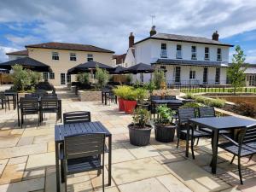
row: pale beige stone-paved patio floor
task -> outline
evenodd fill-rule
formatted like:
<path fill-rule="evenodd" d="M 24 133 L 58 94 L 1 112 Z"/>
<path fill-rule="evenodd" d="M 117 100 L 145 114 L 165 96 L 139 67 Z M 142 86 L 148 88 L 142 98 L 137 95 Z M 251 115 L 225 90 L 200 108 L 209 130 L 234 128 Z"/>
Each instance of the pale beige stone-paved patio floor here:
<path fill-rule="evenodd" d="M 195 147 L 195 160 L 191 155 L 187 159 L 184 143 L 176 148 L 176 141 L 156 142 L 154 131 L 148 146 L 132 146 L 127 129 L 131 115 L 119 113 L 114 104 L 63 97 L 62 112 L 75 110 L 90 111 L 92 120 L 100 120 L 113 134 L 113 182 L 106 186 L 107 192 L 256 191 L 256 158 L 242 159 L 244 185 L 240 185 L 237 161 L 230 165 L 232 155 L 220 149 L 218 173 L 212 175 L 208 139 L 201 139 Z M 0 117 L 0 191 L 55 192 L 55 114 L 47 114 L 39 127 L 36 116 L 27 116 L 23 129 L 17 126 L 16 111 L 1 109 Z M 96 172 L 68 177 L 68 191 L 102 191 L 102 177 L 96 177 Z"/>

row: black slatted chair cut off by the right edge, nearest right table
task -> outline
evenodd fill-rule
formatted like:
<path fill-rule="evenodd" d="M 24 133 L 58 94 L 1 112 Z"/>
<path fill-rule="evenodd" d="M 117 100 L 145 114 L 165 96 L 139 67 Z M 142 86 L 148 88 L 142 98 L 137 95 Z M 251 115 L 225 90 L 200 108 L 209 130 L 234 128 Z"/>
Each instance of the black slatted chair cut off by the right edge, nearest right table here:
<path fill-rule="evenodd" d="M 253 154 L 256 154 L 256 125 L 238 131 L 237 142 L 224 134 L 222 136 L 226 138 L 228 142 L 220 143 L 218 147 L 234 154 L 234 157 L 238 157 L 240 183 L 243 184 L 241 177 L 241 157 L 251 156 L 250 158 L 252 158 Z M 231 160 L 231 163 L 234 159 L 235 158 Z"/>

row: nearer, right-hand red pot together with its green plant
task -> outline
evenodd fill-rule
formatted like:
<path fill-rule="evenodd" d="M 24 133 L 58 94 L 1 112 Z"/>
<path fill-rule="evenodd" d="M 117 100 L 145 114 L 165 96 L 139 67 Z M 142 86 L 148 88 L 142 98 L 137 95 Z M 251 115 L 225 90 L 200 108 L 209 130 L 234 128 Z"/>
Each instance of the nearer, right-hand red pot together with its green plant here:
<path fill-rule="evenodd" d="M 129 90 L 124 96 L 125 113 L 131 114 L 137 105 L 137 91 L 134 89 Z"/>

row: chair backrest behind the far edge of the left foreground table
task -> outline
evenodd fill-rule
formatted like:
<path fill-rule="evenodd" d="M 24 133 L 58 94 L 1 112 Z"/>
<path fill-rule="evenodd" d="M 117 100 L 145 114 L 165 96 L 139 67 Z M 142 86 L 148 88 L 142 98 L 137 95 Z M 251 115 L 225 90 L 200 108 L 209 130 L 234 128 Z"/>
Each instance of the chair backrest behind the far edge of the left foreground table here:
<path fill-rule="evenodd" d="M 63 113 L 64 124 L 90 122 L 90 112 L 74 111 Z"/>

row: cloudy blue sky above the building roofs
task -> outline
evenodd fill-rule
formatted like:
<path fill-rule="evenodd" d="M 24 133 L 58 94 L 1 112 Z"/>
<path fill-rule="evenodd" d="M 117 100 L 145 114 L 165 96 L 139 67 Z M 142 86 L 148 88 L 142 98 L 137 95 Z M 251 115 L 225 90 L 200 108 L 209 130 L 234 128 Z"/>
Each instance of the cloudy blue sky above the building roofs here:
<path fill-rule="evenodd" d="M 157 32 L 212 38 L 241 46 L 256 63 L 256 0 L 0 0 L 0 61 L 26 44 L 92 44 L 125 53 Z M 230 49 L 230 58 L 234 49 Z"/>

